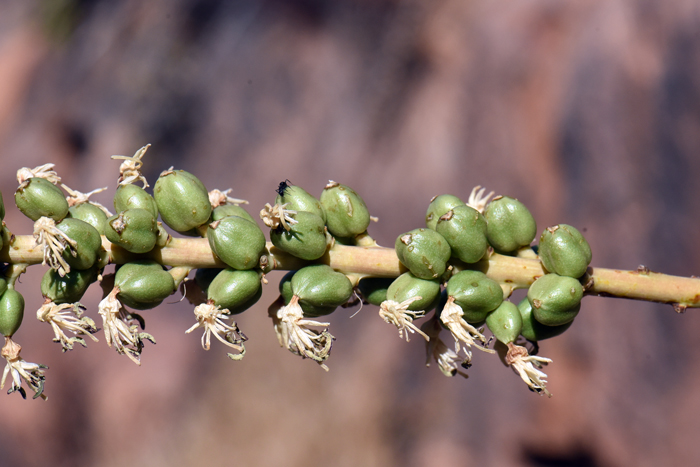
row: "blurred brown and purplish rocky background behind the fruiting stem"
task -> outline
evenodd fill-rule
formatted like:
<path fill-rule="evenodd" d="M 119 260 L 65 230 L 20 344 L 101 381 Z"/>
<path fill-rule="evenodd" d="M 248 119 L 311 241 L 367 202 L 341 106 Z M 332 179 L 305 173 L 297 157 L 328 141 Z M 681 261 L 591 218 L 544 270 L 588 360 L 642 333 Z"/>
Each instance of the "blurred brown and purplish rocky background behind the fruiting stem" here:
<path fill-rule="evenodd" d="M 593 265 L 700 274 L 700 5 L 694 0 L 0 0 L 0 187 L 57 164 L 116 185 L 145 143 L 256 213 L 290 179 L 334 179 L 391 245 L 430 198 L 518 197 L 585 230 Z M 110 204 L 110 195 L 98 201 Z M 541 354 L 552 399 L 492 356 L 425 368 L 376 307 L 331 318 L 325 374 L 277 345 L 273 277 L 237 321 L 241 362 L 204 352 L 186 303 L 145 313 L 142 366 L 61 354 L 22 279 L 23 357 L 48 402 L 0 397 L 0 465 L 656 466 L 700 463 L 700 313 L 587 298 Z M 98 289 L 84 303 L 97 316 Z M 172 301 L 177 298 L 173 297 Z M 218 343 L 217 343 L 218 344 Z"/>

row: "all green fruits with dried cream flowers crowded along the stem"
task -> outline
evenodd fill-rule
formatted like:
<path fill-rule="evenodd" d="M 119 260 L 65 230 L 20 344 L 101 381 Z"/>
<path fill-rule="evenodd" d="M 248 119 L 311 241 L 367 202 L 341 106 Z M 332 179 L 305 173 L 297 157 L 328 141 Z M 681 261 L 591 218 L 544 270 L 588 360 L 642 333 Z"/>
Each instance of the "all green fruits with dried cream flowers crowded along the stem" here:
<path fill-rule="evenodd" d="M 241 206 L 247 201 L 230 197 L 230 190 L 208 192 L 196 176 L 170 168 L 160 174 L 152 194 L 147 192 L 149 185 L 140 171 L 147 149 L 132 157 L 113 156 L 123 160 L 113 199 L 116 214 L 89 199 L 104 188 L 86 194 L 72 190 L 61 183 L 53 164 L 18 171 L 15 203 L 34 221 L 35 248 L 49 266 L 41 282 L 44 303 L 37 318 L 51 326 L 63 351 L 76 343 L 86 346 L 85 337 L 98 340 L 98 326 L 84 315 L 80 300 L 92 283 L 100 282 L 104 298 L 98 313 L 105 341 L 140 364 L 145 341 L 155 339 L 144 332 L 144 319 L 137 311 L 162 303 L 194 268 L 166 267 L 158 261 L 154 252 L 172 242 L 165 224 L 184 236 L 206 238 L 219 265 L 197 269 L 197 287 L 187 290 L 196 322 L 186 333 L 201 329 L 205 350 L 213 335 L 232 349 L 231 359 L 242 358 L 247 337 L 233 316 L 260 299 L 266 273 L 293 269 L 282 278 L 280 296 L 268 312 L 280 345 L 295 355 L 327 370 L 334 337 L 329 323 L 316 318 L 355 304 L 357 297 L 379 305 L 379 315 L 406 340 L 409 333 L 423 336 L 429 361 L 434 358 L 448 376 L 465 375 L 462 370 L 471 365 L 473 346 L 494 353 L 483 334 L 485 323 L 500 343 L 496 349 L 501 344 L 505 349 L 505 363 L 532 390 L 549 394 L 541 366 L 550 360 L 530 355 L 516 341 L 558 335 L 578 313 L 591 252 L 575 228 L 562 224 L 546 229 L 535 251 L 530 247 L 535 221 L 519 201 L 498 196 L 489 202 L 492 194 L 484 196 L 483 189 L 475 189 L 467 203 L 441 195 L 430 203 L 426 228 L 396 240 L 395 253 L 405 273 L 381 278 L 339 272 L 329 266 L 328 254 L 336 244 L 381 248 L 367 234 L 370 221 L 376 219 L 350 187 L 329 181 L 315 198 L 288 180 L 280 183 L 274 205 L 260 212 L 270 228 L 268 247 L 265 234 Z M 4 222 L 0 241 L 14 241 Z M 483 272 L 494 252 L 539 258 L 547 272 L 518 305 L 508 301 L 512 287 Z M 115 255 L 121 260 L 115 261 Z M 296 262 L 281 266 L 277 259 L 285 255 Z M 122 264 L 114 274 L 104 274 L 110 261 Z M 24 381 L 34 397 L 45 398 L 46 367 L 24 361 L 21 347 L 12 340 L 24 314 L 24 300 L 14 285 L 27 265 L 8 264 L 0 277 L 0 332 L 6 338 L 2 356 L 7 361 L 1 386 L 11 375 L 10 392 L 24 397 Z M 420 328 L 413 323 L 433 309 L 434 315 Z M 452 334 L 454 346 L 441 340 L 443 330 Z"/>

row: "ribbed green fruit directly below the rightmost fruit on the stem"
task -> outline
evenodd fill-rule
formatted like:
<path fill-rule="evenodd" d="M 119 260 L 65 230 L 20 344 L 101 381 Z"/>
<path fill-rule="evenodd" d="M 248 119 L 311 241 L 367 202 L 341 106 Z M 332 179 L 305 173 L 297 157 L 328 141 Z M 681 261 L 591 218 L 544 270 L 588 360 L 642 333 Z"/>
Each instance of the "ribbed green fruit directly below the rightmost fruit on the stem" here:
<path fill-rule="evenodd" d="M 583 287 L 573 277 L 546 274 L 527 291 L 535 319 L 546 326 L 572 321 L 581 308 Z"/>

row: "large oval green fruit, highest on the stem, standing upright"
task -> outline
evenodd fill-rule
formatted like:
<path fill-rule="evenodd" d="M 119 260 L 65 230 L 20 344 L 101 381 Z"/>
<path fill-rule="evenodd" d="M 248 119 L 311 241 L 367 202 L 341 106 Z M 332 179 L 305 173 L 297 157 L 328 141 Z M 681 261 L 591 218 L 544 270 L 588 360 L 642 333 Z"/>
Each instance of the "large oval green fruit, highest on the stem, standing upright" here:
<path fill-rule="evenodd" d="M 206 223 L 211 216 L 209 193 L 204 184 L 184 170 L 160 174 L 153 197 L 160 216 L 176 232 L 187 232 Z"/>

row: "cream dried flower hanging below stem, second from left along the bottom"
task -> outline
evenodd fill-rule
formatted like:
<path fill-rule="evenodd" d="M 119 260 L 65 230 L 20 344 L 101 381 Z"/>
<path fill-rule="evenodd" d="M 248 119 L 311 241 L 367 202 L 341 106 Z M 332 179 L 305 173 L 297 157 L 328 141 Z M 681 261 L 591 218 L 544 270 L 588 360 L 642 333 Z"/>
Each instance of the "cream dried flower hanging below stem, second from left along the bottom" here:
<path fill-rule="evenodd" d="M 87 347 L 85 340 L 81 335 L 89 336 L 93 341 L 98 342 L 97 337 L 93 336 L 97 332 L 95 322 L 88 316 L 82 316 L 85 307 L 80 303 L 62 303 L 55 304 L 47 299 L 44 304 L 36 312 L 36 317 L 39 321 L 49 323 L 53 328 L 54 342 L 60 342 L 63 351 L 73 350 L 73 344 L 78 343 L 83 347 Z M 68 337 L 66 332 L 75 334 L 73 337 Z"/>

